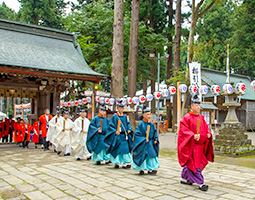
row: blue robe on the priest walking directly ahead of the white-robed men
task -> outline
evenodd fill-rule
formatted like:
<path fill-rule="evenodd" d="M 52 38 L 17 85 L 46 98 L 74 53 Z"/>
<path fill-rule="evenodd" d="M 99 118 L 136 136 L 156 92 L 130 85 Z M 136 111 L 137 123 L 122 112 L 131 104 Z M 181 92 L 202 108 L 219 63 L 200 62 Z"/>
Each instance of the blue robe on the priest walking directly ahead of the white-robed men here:
<path fill-rule="evenodd" d="M 98 128 L 100 127 L 101 119 L 102 123 L 102 133 L 98 133 Z M 109 159 L 109 155 L 106 155 L 106 144 L 104 143 L 106 131 L 109 125 L 109 120 L 106 117 L 96 116 L 89 125 L 88 135 L 87 135 L 87 148 L 92 154 L 93 161 L 103 161 Z M 95 155 L 96 154 L 96 155 Z M 95 158 L 97 155 L 101 158 Z"/>

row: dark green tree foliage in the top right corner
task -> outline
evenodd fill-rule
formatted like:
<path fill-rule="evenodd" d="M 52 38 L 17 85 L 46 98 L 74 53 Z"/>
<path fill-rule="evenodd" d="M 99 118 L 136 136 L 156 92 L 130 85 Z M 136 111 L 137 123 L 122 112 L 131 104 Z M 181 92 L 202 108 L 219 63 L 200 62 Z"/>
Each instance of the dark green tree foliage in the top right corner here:
<path fill-rule="evenodd" d="M 237 73 L 255 76 L 255 1 L 244 0 L 236 9 L 230 43 L 230 66 Z"/>

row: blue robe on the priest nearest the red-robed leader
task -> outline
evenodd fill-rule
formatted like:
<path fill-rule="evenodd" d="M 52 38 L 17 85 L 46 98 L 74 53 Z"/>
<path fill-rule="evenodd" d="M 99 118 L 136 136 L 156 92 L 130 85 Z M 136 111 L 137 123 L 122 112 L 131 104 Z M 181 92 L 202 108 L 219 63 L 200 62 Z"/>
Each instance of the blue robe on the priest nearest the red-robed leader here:
<path fill-rule="evenodd" d="M 149 142 L 146 142 L 147 126 L 150 126 Z M 157 144 L 154 144 L 157 141 Z M 140 121 L 135 129 L 133 141 L 133 165 L 136 170 L 150 170 L 159 167 L 159 141 L 153 123 Z"/>

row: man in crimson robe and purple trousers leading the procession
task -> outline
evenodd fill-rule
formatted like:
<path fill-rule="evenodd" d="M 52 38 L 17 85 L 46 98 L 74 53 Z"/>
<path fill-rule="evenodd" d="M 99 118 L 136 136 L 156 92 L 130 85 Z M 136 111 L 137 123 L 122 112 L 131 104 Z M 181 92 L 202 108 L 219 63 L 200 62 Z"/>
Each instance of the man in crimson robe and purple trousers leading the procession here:
<path fill-rule="evenodd" d="M 212 133 L 200 112 L 200 101 L 195 95 L 191 102 L 191 111 L 181 122 L 178 133 L 178 159 L 181 167 L 181 183 L 199 184 L 199 189 L 207 191 L 202 171 L 208 161 L 214 161 Z M 197 130 L 198 129 L 198 130 Z"/>

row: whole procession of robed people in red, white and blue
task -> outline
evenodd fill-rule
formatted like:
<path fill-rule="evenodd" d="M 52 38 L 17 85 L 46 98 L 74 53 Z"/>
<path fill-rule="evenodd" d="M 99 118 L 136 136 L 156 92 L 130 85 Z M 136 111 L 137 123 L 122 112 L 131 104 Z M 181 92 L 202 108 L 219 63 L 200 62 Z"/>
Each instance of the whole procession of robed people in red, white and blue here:
<path fill-rule="evenodd" d="M 110 120 L 104 105 L 100 105 L 92 121 L 83 107 L 79 108 L 80 116 L 75 121 L 69 118 L 68 109 L 56 110 L 53 117 L 46 108 L 33 125 L 27 119 L 14 121 L 12 116 L 1 121 L 2 142 L 11 135 L 9 141 L 21 148 L 29 148 L 33 142 L 35 148 L 40 145 L 43 151 L 52 149 L 56 156 L 74 156 L 77 161 L 91 159 L 96 165 L 112 163 L 114 168 L 137 170 L 139 175 L 146 171 L 149 175 L 157 174 L 159 136 L 151 122 L 150 109 L 143 108 L 142 120 L 134 131 L 121 101 Z M 190 112 L 180 121 L 177 142 L 178 159 L 183 167 L 180 183 L 196 183 L 200 190 L 207 191 L 209 186 L 204 184 L 202 171 L 208 161 L 214 161 L 214 153 L 212 134 L 199 112 L 200 102 L 194 97 Z"/>

